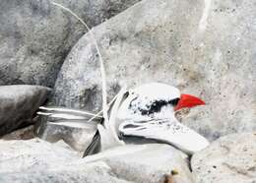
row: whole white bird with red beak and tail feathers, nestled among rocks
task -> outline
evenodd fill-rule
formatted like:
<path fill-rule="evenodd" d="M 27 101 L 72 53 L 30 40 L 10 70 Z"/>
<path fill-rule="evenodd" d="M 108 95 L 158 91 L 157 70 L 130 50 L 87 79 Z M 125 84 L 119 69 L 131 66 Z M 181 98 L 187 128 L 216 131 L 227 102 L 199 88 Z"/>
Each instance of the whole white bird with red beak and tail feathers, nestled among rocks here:
<path fill-rule="evenodd" d="M 163 83 L 148 83 L 135 89 L 122 89 L 109 107 L 109 124 L 100 119 L 97 131 L 91 145 L 83 156 L 96 153 L 98 146 L 101 151 L 114 146 L 123 146 L 125 138 L 137 137 L 145 140 L 155 140 L 173 146 L 187 154 L 199 152 L 209 146 L 202 135 L 181 124 L 175 117 L 175 112 L 182 108 L 192 108 L 206 103 L 197 96 L 181 93 L 177 88 Z M 54 117 L 51 123 L 74 126 L 81 123 L 87 126 L 88 117 L 94 114 L 75 109 L 58 107 L 40 107 L 37 114 Z M 67 123 L 65 123 L 65 120 Z M 72 124 L 74 122 L 74 124 Z M 133 143 L 133 142 L 129 142 Z M 100 150 L 100 148 L 99 148 Z"/>

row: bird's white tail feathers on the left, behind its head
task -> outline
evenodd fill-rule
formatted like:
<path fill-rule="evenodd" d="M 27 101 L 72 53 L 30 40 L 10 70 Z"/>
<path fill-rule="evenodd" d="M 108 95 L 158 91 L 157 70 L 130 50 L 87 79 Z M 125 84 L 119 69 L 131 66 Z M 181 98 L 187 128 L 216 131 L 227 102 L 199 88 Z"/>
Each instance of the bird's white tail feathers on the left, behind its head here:
<path fill-rule="evenodd" d="M 121 102 L 126 97 L 126 89 L 121 89 L 116 95 L 113 104 L 109 105 L 108 112 L 109 124 L 104 123 L 104 119 L 99 114 L 92 112 L 69 109 L 64 107 L 39 107 L 38 115 L 46 117 L 46 123 L 53 123 L 60 126 L 68 126 L 73 128 L 91 128 L 97 124 L 97 130 L 92 143 L 88 146 L 84 156 L 96 152 L 96 150 L 106 150 L 114 146 L 123 145 L 123 141 L 118 138 L 118 127 L 116 126 L 116 115 Z M 94 123 L 94 124 L 93 124 Z"/>

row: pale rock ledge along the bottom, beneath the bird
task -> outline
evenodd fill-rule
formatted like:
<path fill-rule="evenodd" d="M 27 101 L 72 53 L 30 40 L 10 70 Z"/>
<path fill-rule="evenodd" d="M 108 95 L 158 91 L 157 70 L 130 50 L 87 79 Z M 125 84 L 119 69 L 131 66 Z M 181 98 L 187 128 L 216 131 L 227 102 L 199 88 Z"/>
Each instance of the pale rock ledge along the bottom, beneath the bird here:
<path fill-rule="evenodd" d="M 103 152 L 104 158 L 99 153 L 84 159 L 61 142 L 0 141 L 0 147 L 1 183 L 162 183 L 171 170 L 178 173 L 172 177 L 176 183 L 192 182 L 182 152 L 166 145 L 119 147 Z"/>

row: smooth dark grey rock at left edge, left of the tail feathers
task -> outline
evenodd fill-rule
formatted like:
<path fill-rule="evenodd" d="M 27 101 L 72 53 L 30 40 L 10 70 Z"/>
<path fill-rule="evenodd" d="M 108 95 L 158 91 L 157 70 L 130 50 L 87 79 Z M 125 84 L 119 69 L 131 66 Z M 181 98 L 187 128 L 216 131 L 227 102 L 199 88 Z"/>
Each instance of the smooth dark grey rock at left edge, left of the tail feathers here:
<path fill-rule="evenodd" d="M 0 136 L 32 123 L 35 111 L 50 91 L 39 86 L 1 86 Z"/>

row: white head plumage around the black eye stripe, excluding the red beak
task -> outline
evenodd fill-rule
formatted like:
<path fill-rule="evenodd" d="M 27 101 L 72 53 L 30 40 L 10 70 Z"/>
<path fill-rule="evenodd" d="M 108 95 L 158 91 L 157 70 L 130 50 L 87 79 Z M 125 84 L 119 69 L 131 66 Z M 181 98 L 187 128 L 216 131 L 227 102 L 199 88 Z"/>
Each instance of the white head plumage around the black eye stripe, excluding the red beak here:
<path fill-rule="evenodd" d="M 174 87 L 160 83 L 146 84 L 129 91 L 128 97 L 120 106 L 117 117 L 120 120 L 132 119 L 133 121 L 170 118 L 173 114 L 173 107 L 168 107 L 168 105 L 163 106 L 159 112 L 148 115 L 142 115 L 142 113 L 147 112 L 154 104 L 158 104 L 158 101 L 165 101 L 168 104 L 168 101 L 179 97 L 180 91 Z"/>

